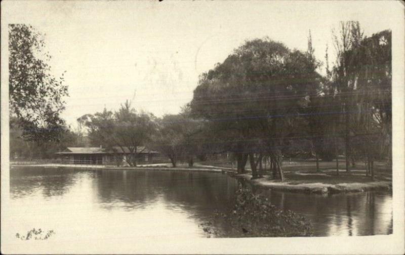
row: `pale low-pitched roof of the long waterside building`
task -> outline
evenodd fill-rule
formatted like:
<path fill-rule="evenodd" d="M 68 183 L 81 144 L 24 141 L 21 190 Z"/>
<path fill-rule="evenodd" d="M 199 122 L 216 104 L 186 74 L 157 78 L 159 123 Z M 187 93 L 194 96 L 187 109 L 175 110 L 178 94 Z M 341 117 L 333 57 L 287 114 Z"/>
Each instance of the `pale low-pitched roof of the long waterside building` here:
<path fill-rule="evenodd" d="M 68 147 L 66 150 L 63 152 L 57 152 L 56 154 L 109 154 L 112 152 L 115 153 L 122 153 L 122 154 L 129 154 L 131 153 L 131 150 L 128 147 L 119 147 L 119 146 L 114 146 L 112 148 L 113 151 L 109 150 L 107 151 L 105 148 L 100 148 L 100 147 Z M 146 149 L 144 146 L 138 146 L 136 149 L 137 153 L 157 153 L 155 151 L 151 151 L 149 149 Z"/>

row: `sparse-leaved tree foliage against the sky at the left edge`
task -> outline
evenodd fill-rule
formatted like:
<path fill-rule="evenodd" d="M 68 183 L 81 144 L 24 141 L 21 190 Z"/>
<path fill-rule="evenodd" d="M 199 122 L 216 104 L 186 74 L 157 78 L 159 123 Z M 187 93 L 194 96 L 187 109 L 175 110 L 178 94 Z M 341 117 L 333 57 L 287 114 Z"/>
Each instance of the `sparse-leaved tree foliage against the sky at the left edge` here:
<path fill-rule="evenodd" d="M 9 25 L 9 104 L 22 137 L 35 142 L 57 141 L 64 132 L 60 113 L 68 95 L 59 79 L 50 74 L 44 38 L 32 26 Z"/>

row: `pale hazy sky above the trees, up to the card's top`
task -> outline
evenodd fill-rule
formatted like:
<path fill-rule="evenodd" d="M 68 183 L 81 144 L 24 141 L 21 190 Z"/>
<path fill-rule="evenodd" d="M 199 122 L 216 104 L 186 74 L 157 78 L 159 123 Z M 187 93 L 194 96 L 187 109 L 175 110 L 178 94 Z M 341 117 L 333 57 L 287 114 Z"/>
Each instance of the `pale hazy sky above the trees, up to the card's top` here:
<path fill-rule="evenodd" d="M 3 3 L 4 4 L 4 3 Z M 66 70 L 63 117 L 116 110 L 130 99 L 157 116 L 178 113 L 198 76 L 245 40 L 269 37 L 315 55 L 333 56 L 331 29 L 358 20 L 366 35 L 389 29 L 398 2 L 14 2 L 8 23 L 46 33 L 55 76 Z M 390 8 L 388 8 L 390 7 Z M 12 14 L 12 15 L 11 15 Z M 394 35 L 395 36 L 395 35 Z"/>

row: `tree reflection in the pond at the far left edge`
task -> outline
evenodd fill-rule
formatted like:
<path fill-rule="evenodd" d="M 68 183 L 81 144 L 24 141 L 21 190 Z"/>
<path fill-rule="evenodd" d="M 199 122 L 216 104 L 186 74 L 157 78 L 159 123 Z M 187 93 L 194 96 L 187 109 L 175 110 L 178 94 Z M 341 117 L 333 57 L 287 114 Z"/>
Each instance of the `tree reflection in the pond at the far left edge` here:
<path fill-rule="evenodd" d="M 13 198 L 29 196 L 41 190 L 44 197 L 62 196 L 76 182 L 73 170 L 57 168 L 19 168 L 10 171 L 10 194 Z"/>

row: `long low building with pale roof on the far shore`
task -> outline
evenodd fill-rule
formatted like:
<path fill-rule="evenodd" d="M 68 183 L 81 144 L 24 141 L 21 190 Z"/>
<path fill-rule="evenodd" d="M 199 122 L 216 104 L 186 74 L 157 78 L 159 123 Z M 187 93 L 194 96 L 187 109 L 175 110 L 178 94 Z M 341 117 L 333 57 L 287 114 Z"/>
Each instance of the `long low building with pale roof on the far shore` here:
<path fill-rule="evenodd" d="M 126 165 L 126 159 L 133 153 L 128 147 L 113 147 L 109 150 L 101 147 L 68 147 L 56 155 L 64 163 L 93 164 L 93 165 Z M 136 148 L 137 163 L 153 163 L 158 152 L 151 151 L 143 146 Z M 117 162 L 118 161 L 118 162 Z"/>

